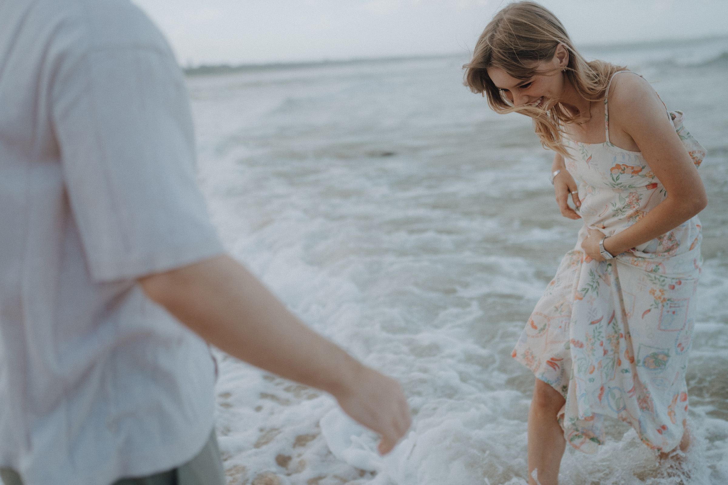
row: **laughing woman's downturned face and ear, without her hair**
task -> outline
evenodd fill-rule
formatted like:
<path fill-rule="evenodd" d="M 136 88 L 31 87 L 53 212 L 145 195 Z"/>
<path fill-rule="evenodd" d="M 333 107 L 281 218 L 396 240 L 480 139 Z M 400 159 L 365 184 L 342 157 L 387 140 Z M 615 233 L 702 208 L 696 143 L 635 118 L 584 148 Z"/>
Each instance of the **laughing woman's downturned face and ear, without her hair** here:
<path fill-rule="evenodd" d="M 552 60 L 541 61 L 536 65 L 537 71 L 553 69 L 548 74 L 516 79 L 502 68 L 488 68 L 488 76 L 513 105 L 550 109 L 563 97 L 566 81 L 561 70 L 568 63 L 569 55 L 563 44 L 559 44 Z"/>

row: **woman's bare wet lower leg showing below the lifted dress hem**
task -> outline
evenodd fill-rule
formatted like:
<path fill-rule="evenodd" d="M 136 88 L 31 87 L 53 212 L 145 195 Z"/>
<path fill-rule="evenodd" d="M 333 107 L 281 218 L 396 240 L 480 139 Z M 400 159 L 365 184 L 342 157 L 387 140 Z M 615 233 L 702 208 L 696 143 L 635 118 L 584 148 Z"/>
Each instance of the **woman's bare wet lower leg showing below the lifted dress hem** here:
<path fill-rule="evenodd" d="M 537 470 L 540 485 L 557 485 L 566 440 L 556 414 L 566 401 L 546 382 L 536 380 L 529 409 L 529 485 L 538 485 L 532 473 Z"/>

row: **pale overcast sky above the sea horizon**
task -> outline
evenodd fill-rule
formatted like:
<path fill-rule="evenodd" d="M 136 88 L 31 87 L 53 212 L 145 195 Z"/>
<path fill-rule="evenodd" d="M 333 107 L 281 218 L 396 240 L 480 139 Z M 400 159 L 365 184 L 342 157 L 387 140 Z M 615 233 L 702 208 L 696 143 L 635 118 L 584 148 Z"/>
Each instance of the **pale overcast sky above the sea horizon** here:
<path fill-rule="evenodd" d="M 467 52 L 507 0 L 132 0 L 183 65 Z M 727 0 L 543 0 L 577 44 L 728 35 Z"/>

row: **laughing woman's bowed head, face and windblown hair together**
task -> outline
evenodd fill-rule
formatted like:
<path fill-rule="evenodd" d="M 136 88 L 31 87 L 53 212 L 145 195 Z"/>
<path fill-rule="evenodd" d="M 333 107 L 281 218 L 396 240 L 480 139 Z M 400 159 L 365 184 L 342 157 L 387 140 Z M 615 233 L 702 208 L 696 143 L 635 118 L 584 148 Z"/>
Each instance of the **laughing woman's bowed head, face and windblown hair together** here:
<path fill-rule="evenodd" d="M 491 36 L 486 42 L 481 36 L 472 61 L 465 65 L 465 84 L 485 95 L 498 113 L 531 116 L 544 147 L 568 157 L 560 125 L 583 124 L 590 118 L 591 103 L 604 99 L 609 79 L 624 68 L 601 60 L 587 62 L 561 22 L 541 9 L 510 9 L 519 14 L 511 20 L 518 24 L 514 28 L 527 32 L 518 49 L 508 36 Z M 564 96 L 571 103 L 559 100 Z"/>

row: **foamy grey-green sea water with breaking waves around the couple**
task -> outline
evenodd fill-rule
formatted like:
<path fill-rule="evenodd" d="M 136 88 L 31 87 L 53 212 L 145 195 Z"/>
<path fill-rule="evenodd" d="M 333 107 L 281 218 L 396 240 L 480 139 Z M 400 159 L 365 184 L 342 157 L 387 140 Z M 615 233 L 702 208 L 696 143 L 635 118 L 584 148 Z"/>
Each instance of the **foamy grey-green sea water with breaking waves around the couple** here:
<path fill-rule="evenodd" d="M 644 74 L 707 148 L 689 364 L 693 445 L 660 465 L 621 422 L 561 483 L 728 483 L 728 39 L 590 46 Z M 579 221 L 524 116 L 462 86 L 467 55 L 188 76 L 202 187 L 230 252 L 306 324 L 399 380 L 413 412 L 381 459 L 331 396 L 218 353 L 229 485 L 526 483 L 534 377 L 510 357 Z M 324 418 L 322 420 L 322 418 Z M 354 437 L 352 438 L 352 435 Z"/>

